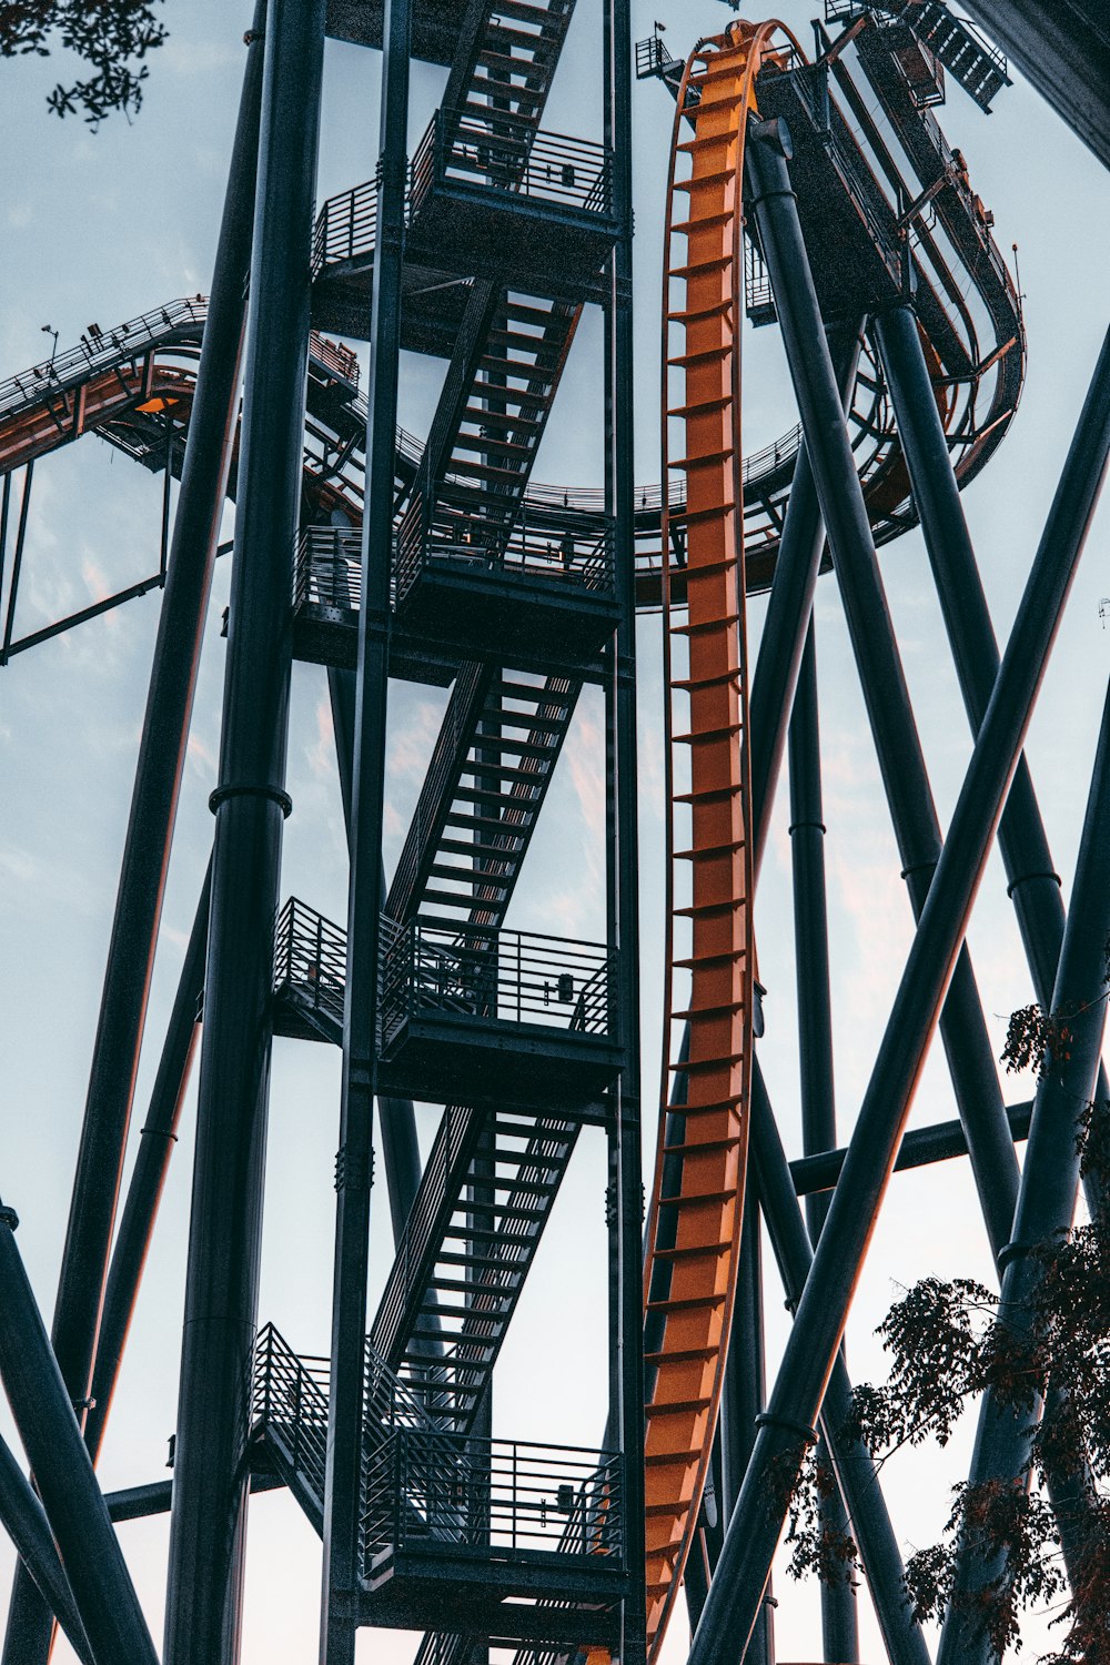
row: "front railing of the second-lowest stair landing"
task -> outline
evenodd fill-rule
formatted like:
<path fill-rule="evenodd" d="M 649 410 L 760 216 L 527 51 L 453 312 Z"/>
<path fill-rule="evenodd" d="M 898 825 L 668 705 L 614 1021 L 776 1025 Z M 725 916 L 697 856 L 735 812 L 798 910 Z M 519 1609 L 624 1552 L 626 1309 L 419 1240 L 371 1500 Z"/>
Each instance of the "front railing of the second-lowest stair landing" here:
<path fill-rule="evenodd" d="M 394 926 L 388 946 L 383 939 L 381 1046 L 409 1017 L 434 1012 L 604 1036 L 612 1026 L 611 969 L 612 957 L 596 942 L 416 917 Z"/>

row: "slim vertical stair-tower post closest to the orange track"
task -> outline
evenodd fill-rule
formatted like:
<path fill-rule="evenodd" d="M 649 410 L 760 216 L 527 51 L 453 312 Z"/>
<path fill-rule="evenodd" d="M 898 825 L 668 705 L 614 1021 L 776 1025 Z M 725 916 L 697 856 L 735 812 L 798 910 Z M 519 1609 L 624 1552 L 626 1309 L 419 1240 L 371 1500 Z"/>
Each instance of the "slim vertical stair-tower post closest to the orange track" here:
<path fill-rule="evenodd" d="M 617 240 L 609 260 L 604 305 L 606 506 L 614 518 L 614 561 L 621 616 L 606 689 L 609 711 L 611 922 L 616 947 L 616 1017 L 622 1071 L 614 1092 L 616 1127 L 616 1387 L 622 1457 L 624 1562 L 629 1592 L 621 1603 L 621 1665 L 646 1657 L 644 1592 L 644 1312 L 642 1312 L 642 1166 L 639 1081 L 639 891 L 636 801 L 636 478 L 632 451 L 632 30 L 629 0 L 606 0 L 604 138 L 612 168 Z M 616 939 L 612 932 L 616 931 Z"/>

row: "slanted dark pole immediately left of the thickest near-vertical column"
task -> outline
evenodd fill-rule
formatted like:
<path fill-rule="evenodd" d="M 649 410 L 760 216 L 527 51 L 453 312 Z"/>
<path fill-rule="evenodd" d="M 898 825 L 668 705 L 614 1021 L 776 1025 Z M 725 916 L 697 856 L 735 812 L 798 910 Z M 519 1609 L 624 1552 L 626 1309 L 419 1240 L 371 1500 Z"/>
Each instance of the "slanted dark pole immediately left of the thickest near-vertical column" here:
<path fill-rule="evenodd" d="M 265 0 L 258 0 L 256 42 L 248 47 L 228 170 L 53 1310 L 53 1347 L 77 1402 L 93 1397 L 90 1379 L 111 1229 L 235 440 L 258 165 L 263 22 Z M 18 1665 L 45 1660 L 50 1630 L 50 1615 L 27 1577 L 17 1572 L 3 1665 L 17 1665 L 17 1658 Z"/>

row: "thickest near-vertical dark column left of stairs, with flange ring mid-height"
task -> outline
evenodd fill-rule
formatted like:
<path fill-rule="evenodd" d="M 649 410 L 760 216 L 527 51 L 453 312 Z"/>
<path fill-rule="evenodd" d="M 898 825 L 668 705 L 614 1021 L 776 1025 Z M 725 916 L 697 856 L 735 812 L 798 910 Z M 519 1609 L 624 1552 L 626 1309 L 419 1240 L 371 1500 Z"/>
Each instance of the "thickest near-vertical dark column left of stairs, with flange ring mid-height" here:
<path fill-rule="evenodd" d="M 233 1665 L 258 1307 L 273 917 L 325 0 L 271 0 L 185 1285 L 166 1665 Z"/>

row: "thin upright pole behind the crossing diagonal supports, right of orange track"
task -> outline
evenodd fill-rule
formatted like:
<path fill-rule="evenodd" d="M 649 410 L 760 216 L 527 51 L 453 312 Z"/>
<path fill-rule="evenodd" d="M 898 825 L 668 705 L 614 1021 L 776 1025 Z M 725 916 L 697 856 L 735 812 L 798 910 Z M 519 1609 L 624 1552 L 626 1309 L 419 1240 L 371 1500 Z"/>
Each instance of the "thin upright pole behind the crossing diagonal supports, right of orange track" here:
<path fill-rule="evenodd" d="M 820 729 L 817 718 L 817 648 L 810 616 L 802 669 L 790 718 L 790 861 L 794 866 L 794 944 L 797 966 L 799 1057 L 802 1074 L 802 1149 L 832 1151 L 837 1117 L 832 1076 L 832 1001 L 829 991 L 829 914 L 825 907 L 825 823 L 820 793 Z M 820 1237 L 829 1195 L 805 1199 L 810 1240 Z M 817 1457 L 829 1460 L 824 1440 Z M 822 1503 L 832 1532 L 849 1528 L 839 1492 Z M 820 1587 L 820 1625 L 827 1660 L 859 1660 L 855 1590 L 845 1577 Z"/>

